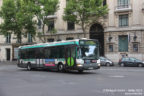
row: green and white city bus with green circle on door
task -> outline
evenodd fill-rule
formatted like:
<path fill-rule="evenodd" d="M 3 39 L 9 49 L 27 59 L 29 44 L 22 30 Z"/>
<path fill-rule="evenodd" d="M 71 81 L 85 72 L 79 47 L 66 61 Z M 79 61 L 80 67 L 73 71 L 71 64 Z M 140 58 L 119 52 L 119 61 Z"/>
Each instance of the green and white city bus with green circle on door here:
<path fill-rule="evenodd" d="M 99 69 L 99 43 L 93 39 L 76 39 L 20 46 L 18 67 L 79 72 Z"/>

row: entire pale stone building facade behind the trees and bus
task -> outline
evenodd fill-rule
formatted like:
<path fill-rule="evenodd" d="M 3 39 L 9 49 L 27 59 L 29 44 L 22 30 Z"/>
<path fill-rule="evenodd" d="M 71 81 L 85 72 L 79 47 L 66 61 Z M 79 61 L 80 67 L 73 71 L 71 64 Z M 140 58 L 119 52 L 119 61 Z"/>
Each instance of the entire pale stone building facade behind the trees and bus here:
<path fill-rule="evenodd" d="M 1 2 L 2 0 L 0 5 Z M 98 39 L 100 54 L 114 62 L 118 62 L 123 56 L 144 60 L 144 0 L 104 0 L 104 4 L 108 5 L 108 15 L 100 23 L 90 25 L 86 37 Z M 47 42 L 83 38 L 80 26 L 63 20 L 65 7 L 66 0 L 59 0 L 59 10 L 49 16 L 52 23 L 45 29 Z M 50 34 L 51 28 L 55 28 L 57 32 Z M 37 31 L 41 31 L 40 25 Z M 8 53 L 10 53 L 10 60 L 16 57 L 15 52 L 19 44 L 12 36 L 11 42 L 6 43 L 8 38 L 0 35 L 0 60 L 8 60 Z M 28 42 L 28 38 L 23 40 L 23 44 L 40 42 L 38 38 L 33 42 Z"/>

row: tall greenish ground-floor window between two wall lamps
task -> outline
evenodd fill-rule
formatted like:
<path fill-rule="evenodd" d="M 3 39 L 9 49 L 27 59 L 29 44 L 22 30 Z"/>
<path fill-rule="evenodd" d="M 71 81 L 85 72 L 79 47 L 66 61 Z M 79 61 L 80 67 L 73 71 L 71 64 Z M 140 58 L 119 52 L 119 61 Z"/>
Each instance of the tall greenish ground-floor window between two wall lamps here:
<path fill-rule="evenodd" d="M 119 36 L 119 52 L 128 52 L 128 36 Z"/>

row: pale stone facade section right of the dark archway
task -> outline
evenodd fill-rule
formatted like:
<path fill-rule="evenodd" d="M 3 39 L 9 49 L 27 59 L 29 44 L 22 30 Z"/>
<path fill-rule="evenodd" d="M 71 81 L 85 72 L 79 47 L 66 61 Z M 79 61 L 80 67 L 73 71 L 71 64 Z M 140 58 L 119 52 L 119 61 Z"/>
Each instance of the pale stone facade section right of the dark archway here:
<path fill-rule="evenodd" d="M 107 0 L 108 25 L 104 31 L 105 56 L 144 60 L 144 0 Z"/>

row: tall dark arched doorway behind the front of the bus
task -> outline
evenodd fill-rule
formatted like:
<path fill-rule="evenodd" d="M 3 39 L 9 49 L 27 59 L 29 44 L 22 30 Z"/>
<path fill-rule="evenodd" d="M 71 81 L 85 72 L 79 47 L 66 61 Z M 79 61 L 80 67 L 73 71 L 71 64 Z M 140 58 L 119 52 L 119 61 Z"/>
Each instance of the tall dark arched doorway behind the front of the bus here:
<path fill-rule="evenodd" d="M 97 39 L 100 43 L 100 56 L 104 56 L 104 29 L 100 24 L 93 24 L 90 27 L 90 39 Z"/>

